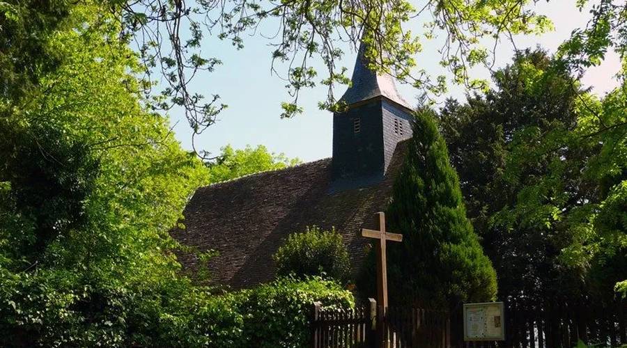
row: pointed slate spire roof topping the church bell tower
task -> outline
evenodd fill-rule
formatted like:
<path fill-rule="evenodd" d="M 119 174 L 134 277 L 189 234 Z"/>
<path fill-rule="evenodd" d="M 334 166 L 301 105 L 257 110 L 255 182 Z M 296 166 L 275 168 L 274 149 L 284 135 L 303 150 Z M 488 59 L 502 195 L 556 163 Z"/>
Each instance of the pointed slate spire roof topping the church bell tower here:
<path fill-rule="evenodd" d="M 412 106 L 396 90 L 392 75 L 376 73 L 368 68 L 365 51 L 366 47 L 362 42 L 359 45 L 359 53 L 353 70 L 353 85 L 346 90 L 340 101 L 351 106 L 374 97 L 386 97 L 388 100 L 412 110 Z"/>

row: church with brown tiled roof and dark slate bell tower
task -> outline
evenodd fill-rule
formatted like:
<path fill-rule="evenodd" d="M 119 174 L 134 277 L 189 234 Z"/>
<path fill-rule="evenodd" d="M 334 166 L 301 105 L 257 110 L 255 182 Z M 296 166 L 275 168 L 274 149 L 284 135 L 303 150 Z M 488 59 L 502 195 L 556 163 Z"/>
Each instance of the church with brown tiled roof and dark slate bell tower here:
<path fill-rule="evenodd" d="M 196 190 L 185 207 L 185 230 L 172 235 L 200 251 L 215 250 L 210 281 L 240 289 L 274 278 L 272 255 L 288 235 L 307 226 L 335 228 L 350 253 L 353 272 L 369 239 L 361 228 L 376 227 L 385 210 L 412 135 L 412 107 L 389 74 L 368 68 L 359 48 L 353 84 L 341 100 L 348 108 L 333 115 L 333 157 L 211 184 Z M 199 260 L 179 255 L 187 271 Z"/>

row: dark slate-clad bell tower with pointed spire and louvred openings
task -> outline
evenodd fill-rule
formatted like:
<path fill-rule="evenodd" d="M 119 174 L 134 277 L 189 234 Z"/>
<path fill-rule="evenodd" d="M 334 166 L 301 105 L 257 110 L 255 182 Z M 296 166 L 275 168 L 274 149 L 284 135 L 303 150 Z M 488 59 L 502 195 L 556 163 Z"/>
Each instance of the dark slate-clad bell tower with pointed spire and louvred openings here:
<path fill-rule="evenodd" d="M 333 114 L 334 189 L 382 180 L 396 144 L 412 136 L 412 107 L 396 90 L 392 76 L 373 72 L 368 65 L 362 42 L 353 83 L 340 99 L 348 107 Z"/>

